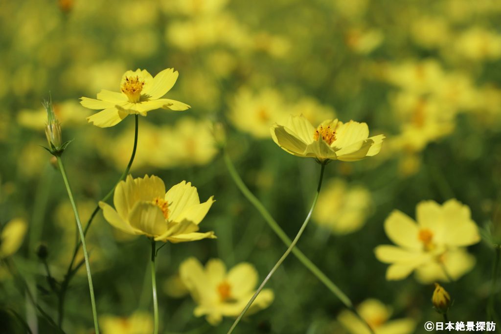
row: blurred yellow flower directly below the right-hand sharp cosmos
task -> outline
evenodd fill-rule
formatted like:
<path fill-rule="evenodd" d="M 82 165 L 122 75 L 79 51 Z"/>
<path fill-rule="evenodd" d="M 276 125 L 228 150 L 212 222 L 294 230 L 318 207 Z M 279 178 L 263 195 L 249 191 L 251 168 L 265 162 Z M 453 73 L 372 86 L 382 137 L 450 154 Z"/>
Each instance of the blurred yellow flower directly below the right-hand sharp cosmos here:
<path fill-rule="evenodd" d="M 313 211 L 313 219 L 335 234 L 360 229 L 372 207 L 370 192 L 362 186 L 348 187 L 345 181 L 328 181 Z"/>

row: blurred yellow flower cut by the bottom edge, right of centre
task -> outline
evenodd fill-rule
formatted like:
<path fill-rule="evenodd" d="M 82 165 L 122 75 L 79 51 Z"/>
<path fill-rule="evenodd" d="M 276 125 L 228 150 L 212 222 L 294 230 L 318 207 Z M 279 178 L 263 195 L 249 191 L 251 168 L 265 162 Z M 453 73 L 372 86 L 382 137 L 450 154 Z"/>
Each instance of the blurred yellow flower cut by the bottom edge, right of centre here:
<path fill-rule="evenodd" d="M 416 322 L 411 318 L 389 320 L 391 308 L 377 299 L 366 299 L 357 307 L 357 311 L 376 334 L 410 334 L 416 327 Z M 352 334 L 370 333 L 367 325 L 349 310 L 342 311 L 338 320 Z"/>

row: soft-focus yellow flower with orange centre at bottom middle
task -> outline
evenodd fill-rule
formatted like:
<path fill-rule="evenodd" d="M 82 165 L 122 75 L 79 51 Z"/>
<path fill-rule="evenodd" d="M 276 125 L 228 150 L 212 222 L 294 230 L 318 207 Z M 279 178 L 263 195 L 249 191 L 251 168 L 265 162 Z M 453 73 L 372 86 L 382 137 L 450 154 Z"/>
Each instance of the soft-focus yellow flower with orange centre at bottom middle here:
<path fill-rule="evenodd" d="M 223 316 L 236 317 L 253 296 L 258 283 L 258 272 L 252 264 L 239 263 L 226 272 L 220 259 L 211 259 L 205 265 L 191 257 L 181 263 L 179 275 L 198 304 L 195 316 L 205 315 L 209 323 L 219 323 Z M 271 289 L 264 289 L 246 314 L 268 307 L 274 299 Z"/>

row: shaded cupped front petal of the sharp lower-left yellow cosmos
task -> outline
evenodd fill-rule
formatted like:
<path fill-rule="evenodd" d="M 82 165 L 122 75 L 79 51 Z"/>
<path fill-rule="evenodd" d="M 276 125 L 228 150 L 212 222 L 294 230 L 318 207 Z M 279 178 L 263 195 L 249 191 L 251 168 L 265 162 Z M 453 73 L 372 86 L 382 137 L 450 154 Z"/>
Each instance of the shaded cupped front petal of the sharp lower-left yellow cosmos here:
<path fill-rule="evenodd" d="M 137 202 L 129 213 L 130 225 L 147 236 L 157 236 L 167 230 L 162 210 L 149 202 Z"/>

